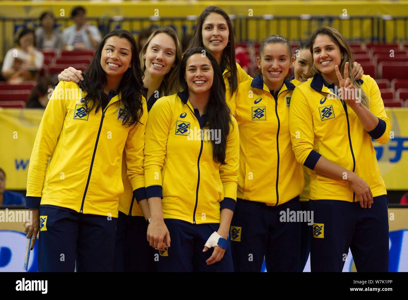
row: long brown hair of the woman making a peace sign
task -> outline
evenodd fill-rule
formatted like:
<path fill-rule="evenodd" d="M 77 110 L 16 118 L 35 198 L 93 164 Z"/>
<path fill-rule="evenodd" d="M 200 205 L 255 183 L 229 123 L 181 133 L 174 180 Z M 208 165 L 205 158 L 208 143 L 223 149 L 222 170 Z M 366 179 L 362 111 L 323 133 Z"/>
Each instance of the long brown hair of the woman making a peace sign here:
<path fill-rule="evenodd" d="M 361 85 L 353 77 L 352 67 L 354 63 L 354 54 L 346 39 L 341 35 L 341 33 L 339 33 L 339 31 L 337 31 L 334 28 L 321 27 L 317 29 L 310 38 L 310 53 L 312 53 L 312 58 L 313 58 L 313 44 L 315 43 L 316 37 L 319 35 L 329 36 L 333 40 L 333 42 L 340 48 L 340 52 L 343 53 L 343 58 L 341 59 L 341 63 L 339 65 L 339 71 L 341 73 L 341 76 L 344 76 L 344 66 L 346 65 L 346 62 L 348 62 L 348 78 L 350 78 L 351 83 L 361 91 L 360 101 L 365 107 L 368 108 L 368 102 L 370 100 L 366 93 L 364 93 L 363 89 L 361 89 Z M 313 73 L 322 75 L 322 73 L 317 69 L 314 59 L 311 71 Z"/>

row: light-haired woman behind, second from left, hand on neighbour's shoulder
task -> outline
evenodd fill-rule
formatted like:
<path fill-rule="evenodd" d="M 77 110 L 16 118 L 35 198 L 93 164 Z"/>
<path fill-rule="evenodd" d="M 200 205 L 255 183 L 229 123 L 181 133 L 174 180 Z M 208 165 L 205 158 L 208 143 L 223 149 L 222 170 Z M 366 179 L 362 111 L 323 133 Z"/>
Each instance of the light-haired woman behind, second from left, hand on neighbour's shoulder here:
<path fill-rule="evenodd" d="M 139 58 L 143 72 L 143 95 L 147 99 L 148 112 L 158 98 L 180 90 L 178 70 L 181 54 L 180 41 L 171 27 L 156 29 L 141 48 Z M 69 67 L 58 75 L 58 79 L 80 82 L 83 79 L 81 73 Z M 155 271 L 154 249 L 146 242 L 149 204 L 142 198 L 135 201 L 126 169 L 126 160 L 122 160 L 124 192 L 119 200 L 114 270 Z"/>

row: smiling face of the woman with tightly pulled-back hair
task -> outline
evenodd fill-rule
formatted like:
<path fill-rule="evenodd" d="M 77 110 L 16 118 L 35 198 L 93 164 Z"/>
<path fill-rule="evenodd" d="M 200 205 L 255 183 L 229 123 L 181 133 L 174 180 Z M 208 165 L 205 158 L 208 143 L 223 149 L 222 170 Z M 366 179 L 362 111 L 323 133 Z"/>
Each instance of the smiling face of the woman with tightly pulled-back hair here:
<path fill-rule="evenodd" d="M 293 62 L 287 45 L 284 43 L 267 44 L 260 55 L 261 58 L 257 57 L 256 60 L 265 84 L 270 87 L 283 82 Z"/>

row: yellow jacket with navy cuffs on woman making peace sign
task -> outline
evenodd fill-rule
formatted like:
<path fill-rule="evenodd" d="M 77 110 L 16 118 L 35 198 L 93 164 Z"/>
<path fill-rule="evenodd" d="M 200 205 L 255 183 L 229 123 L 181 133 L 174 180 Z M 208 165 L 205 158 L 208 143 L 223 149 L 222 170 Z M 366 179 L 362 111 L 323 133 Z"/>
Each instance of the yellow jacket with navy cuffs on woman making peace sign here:
<path fill-rule="evenodd" d="M 328 160 L 357 173 L 370 186 L 373 196 L 386 194 L 371 138 L 385 144 L 390 121 L 377 83 L 368 75 L 360 80 L 370 111 L 379 118 L 377 127 L 364 130 L 359 118 L 316 74 L 293 92 L 290 105 L 290 133 L 296 159 L 309 168 L 310 199 L 358 201 L 346 180 L 335 180 L 313 171 L 317 160 Z"/>

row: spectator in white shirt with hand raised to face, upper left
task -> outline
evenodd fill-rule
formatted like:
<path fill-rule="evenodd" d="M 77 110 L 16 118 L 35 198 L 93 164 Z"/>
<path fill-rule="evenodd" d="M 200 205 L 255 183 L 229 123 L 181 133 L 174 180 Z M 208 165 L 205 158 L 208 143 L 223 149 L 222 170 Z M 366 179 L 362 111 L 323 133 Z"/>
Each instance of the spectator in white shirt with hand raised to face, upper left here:
<path fill-rule="evenodd" d="M 85 9 L 75 7 L 71 12 L 75 24 L 62 32 L 63 49 L 94 49 L 101 41 L 101 34 L 95 25 L 86 20 Z"/>

